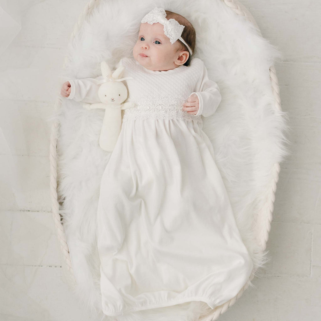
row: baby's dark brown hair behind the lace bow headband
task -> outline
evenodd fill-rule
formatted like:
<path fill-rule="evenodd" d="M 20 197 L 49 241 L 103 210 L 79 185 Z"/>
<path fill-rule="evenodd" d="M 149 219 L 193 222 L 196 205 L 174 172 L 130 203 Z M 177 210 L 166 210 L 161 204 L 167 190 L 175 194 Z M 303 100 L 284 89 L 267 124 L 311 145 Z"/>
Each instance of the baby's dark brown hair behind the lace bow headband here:
<path fill-rule="evenodd" d="M 193 25 L 182 15 L 175 13 L 175 12 L 171 12 L 168 10 L 165 10 L 166 12 L 166 19 L 175 19 L 179 24 L 182 24 L 183 26 L 185 26 L 185 28 L 183 29 L 182 32 L 182 38 L 184 39 L 184 41 L 186 41 L 187 45 L 192 49 L 192 52 L 195 52 L 195 44 L 196 44 L 196 32 L 195 29 L 193 27 Z M 185 44 L 183 44 L 182 41 L 179 41 L 180 47 L 177 49 L 177 51 L 179 50 L 186 50 L 188 51 L 187 47 Z M 189 57 L 187 59 L 187 61 L 185 62 L 185 66 L 188 66 L 190 64 L 191 61 L 191 54 L 189 54 Z"/>

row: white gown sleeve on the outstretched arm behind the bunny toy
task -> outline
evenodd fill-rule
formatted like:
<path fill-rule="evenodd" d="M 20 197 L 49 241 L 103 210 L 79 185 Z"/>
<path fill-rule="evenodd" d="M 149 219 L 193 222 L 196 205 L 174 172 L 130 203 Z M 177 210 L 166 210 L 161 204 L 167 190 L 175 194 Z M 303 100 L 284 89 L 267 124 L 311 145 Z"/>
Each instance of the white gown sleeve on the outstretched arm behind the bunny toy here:
<path fill-rule="evenodd" d="M 121 64 L 121 61 L 122 59 L 119 60 L 116 68 Z M 104 79 L 103 76 L 98 76 L 96 78 L 69 79 L 71 92 L 67 98 L 90 104 L 100 102 L 98 96 L 100 84 L 98 82 L 102 79 Z"/>

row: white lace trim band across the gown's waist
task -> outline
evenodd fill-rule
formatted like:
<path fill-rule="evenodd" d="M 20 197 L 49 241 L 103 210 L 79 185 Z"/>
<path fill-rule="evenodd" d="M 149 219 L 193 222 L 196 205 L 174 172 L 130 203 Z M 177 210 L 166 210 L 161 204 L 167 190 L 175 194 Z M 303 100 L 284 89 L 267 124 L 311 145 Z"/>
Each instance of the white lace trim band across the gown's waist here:
<path fill-rule="evenodd" d="M 130 119 L 186 119 L 188 121 L 202 122 L 201 116 L 183 111 L 183 103 L 187 99 L 182 96 L 138 96 L 129 98 L 134 101 L 134 108 L 124 110 L 123 120 Z"/>

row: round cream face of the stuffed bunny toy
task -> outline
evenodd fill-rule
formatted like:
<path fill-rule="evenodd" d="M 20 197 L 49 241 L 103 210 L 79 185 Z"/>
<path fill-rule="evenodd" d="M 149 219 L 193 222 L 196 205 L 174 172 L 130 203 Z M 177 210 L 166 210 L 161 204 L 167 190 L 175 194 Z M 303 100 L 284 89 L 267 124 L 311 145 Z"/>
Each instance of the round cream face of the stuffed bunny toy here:
<path fill-rule="evenodd" d="M 99 87 L 98 96 L 104 104 L 120 105 L 127 98 L 127 88 L 122 82 L 104 82 Z"/>

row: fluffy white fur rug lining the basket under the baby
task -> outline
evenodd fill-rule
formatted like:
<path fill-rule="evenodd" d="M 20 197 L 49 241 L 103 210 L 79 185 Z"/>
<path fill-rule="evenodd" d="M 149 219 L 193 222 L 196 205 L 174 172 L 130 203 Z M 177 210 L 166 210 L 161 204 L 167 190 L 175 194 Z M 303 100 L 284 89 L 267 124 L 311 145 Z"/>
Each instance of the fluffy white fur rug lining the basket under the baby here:
<path fill-rule="evenodd" d="M 213 143 L 240 234 L 256 270 L 268 257 L 257 244 L 253 222 L 256 215 L 266 215 L 262 206 L 271 169 L 288 155 L 284 145 L 288 127 L 287 115 L 275 108 L 269 78 L 269 67 L 281 54 L 250 22 L 221 0 L 100 0 L 69 44 L 65 80 L 96 77 L 100 61 L 115 66 L 121 56 L 132 56 L 140 20 L 155 6 L 192 22 L 197 34 L 195 57 L 204 61 L 210 79 L 219 85 L 221 104 L 212 116 L 202 117 L 203 130 Z M 103 116 L 104 110 L 88 111 L 67 99 L 53 115 L 60 122 L 57 190 L 78 284 L 75 293 L 96 317 L 102 316 L 96 211 L 100 179 L 110 157 L 98 143 Z M 187 321 L 210 311 L 206 303 L 192 302 L 106 320 Z"/>

